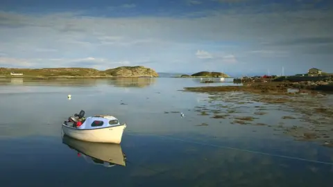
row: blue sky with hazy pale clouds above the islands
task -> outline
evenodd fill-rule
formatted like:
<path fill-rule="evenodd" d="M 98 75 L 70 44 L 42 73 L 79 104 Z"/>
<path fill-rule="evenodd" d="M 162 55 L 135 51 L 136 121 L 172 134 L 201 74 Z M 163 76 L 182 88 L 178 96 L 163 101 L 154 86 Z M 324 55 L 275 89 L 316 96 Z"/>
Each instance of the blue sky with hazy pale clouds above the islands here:
<path fill-rule="evenodd" d="M 0 66 L 333 73 L 330 0 L 1 0 Z"/>

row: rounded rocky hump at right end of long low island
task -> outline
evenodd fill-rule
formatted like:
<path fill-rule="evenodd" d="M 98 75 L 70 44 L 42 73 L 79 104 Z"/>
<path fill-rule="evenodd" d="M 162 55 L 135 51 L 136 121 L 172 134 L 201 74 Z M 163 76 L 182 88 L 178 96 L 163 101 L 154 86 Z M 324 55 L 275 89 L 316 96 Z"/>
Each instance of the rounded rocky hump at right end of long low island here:
<path fill-rule="evenodd" d="M 158 77 L 153 69 L 144 66 L 120 66 L 114 69 L 107 69 L 105 73 L 114 77 Z"/>

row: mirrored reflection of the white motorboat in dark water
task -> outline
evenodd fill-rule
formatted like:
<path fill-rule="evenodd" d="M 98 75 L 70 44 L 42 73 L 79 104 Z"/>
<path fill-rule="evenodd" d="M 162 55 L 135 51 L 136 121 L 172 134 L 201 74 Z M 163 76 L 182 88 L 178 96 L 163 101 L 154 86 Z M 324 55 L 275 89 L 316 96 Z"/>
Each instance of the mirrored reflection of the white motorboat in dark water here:
<path fill-rule="evenodd" d="M 120 144 L 80 141 L 67 135 L 62 137 L 62 143 L 76 150 L 78 156 L 83 157 L 88 163 L 105 167 L 126 166 L 126 155 L 123 154 Z"/>

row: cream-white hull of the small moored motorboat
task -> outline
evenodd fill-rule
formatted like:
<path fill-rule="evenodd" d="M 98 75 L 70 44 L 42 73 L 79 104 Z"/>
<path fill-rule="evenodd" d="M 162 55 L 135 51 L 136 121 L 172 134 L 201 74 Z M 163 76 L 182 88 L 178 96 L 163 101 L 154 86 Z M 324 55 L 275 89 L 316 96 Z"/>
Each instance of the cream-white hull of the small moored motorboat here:
<path fill-rule="evenodd" d="M 62 124 L 62 131 L 71 138 L 80 141 L 100 142 L 100 143 L 121 143 L 123 130 L 126 124 L 112 127 L 104 127 L 92 130 L 80 130 L 68 125 Z"/>

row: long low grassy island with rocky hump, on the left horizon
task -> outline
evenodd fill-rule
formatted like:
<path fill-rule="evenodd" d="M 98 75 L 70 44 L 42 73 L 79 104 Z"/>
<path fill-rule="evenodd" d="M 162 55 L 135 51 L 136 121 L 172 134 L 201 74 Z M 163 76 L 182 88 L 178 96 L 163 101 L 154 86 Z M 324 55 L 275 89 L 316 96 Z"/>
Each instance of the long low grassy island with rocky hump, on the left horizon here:
<path fill-rule="evenodd" d="M 92 68 L 43 68 L 43 69 L 9 69 L 0 68 L 0 78 L 156 78 L 158 73 L 144 66 L 119 66 L 100 71 Z"/>

